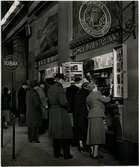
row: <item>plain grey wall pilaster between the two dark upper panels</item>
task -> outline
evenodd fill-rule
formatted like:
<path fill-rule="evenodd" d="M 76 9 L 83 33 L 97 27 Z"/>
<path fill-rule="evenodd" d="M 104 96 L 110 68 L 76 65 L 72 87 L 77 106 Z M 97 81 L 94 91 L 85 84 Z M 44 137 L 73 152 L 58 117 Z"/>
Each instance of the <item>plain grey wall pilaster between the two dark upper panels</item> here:
<path fill-rule="evenodd" d="M 72 2 L 58 2 L 58 56 L 59 63 L 70 61 L 69 42 L 72 39 Z"/>

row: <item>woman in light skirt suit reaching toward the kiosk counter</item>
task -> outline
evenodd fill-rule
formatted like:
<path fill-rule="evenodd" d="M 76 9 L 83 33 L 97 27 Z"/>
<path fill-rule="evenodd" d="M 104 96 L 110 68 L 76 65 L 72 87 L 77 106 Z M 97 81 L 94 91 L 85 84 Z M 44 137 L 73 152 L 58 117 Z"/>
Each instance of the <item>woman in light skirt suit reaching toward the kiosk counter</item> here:
<path fill-rule="evenodd" d="M 90 94 L 87 97 L 86 103 L 88 106 L 88 132 L 87 145 L 91 146 L 90 156 L 92 158 L 100 158 L 98 149 L 100 144 L 105 144 L 105 129 L 104 129 L 104 103 L 110 101 L 110 97 L 102 96 L 97 90 L 94 83 L 89 84 Z"/>

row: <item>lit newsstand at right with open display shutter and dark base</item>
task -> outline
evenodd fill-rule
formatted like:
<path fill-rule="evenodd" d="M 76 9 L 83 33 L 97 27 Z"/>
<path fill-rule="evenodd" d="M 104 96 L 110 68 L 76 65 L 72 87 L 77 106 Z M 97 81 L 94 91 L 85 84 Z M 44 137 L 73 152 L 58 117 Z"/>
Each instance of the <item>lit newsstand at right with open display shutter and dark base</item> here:
<path fill-rule="evenodd" d="M 122 138 L 123 99 L 128 96 L 126 46 L 119 45 L 110 53 L 93 57 L 90 61 L 93 62 L 93 69 L 90 70 L 92 80 L 103 95 L 112 97 L 106 105 L 106 127 L 107 132 L 113 133 L 117 140 Z M 89 76 L 89 71 L 86 71 L 85 75 Z"/>

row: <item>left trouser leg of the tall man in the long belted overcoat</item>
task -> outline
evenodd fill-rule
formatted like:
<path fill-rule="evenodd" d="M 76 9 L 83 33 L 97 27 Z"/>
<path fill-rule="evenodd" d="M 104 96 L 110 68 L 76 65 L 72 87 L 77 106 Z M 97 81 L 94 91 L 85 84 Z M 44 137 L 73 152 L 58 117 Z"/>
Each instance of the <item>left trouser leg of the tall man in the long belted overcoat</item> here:
<path fill-rule="evenodd" d="M 53 151 L 54 151 L 54 156 L 58 158 L 60 156 L 60 140 L 59 139 L 54 139 L 53 140 Z"/>

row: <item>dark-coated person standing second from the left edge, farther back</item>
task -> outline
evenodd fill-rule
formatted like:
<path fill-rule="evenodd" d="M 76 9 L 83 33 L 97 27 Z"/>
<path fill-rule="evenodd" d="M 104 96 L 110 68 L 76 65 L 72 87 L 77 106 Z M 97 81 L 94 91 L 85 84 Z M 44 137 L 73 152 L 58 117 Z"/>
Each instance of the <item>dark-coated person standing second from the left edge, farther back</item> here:
<path fill-rule="evenodd" d="M 23 126 L 26 121 L 26 91 L 28 85 L 23 83 L 18 91 L 18 111 L 19 111 L 19 125 Z"/>

